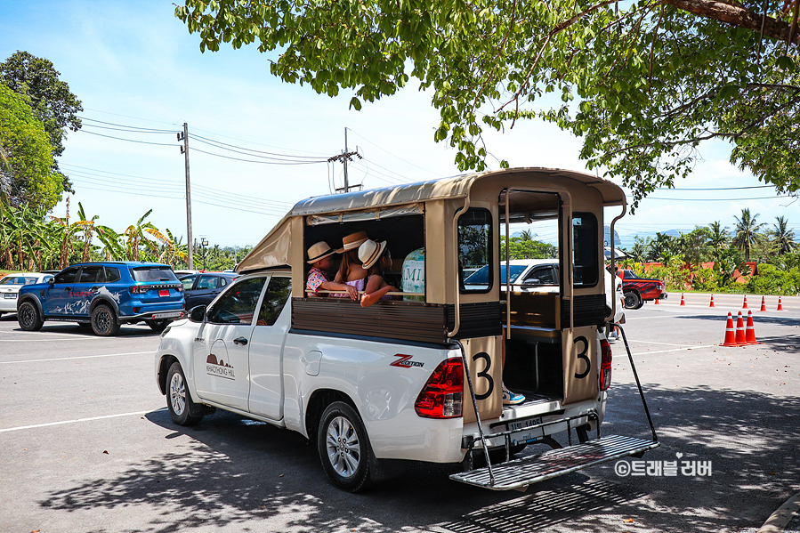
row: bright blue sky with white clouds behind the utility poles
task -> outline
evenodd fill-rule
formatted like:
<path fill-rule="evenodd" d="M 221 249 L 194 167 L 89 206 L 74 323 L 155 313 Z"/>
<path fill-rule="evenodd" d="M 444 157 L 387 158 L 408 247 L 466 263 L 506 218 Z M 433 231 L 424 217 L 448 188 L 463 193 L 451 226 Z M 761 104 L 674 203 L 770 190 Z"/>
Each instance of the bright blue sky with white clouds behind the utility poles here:
<path fill-rule="evenodd" d="M 255 245 L 297 201 L 342 187 L 343 166 L 327 158 L 342 153 L 345 132 L 347 148 L 363 156 L 348 167 L 350 184 L 373 189 L 460 174 L 455 150 L 433 141 L 439 114 L 416 84 L 348 109 L 352 93 L 329 98 L 271 76 L 271 56 L 255 46 L 200 52 L 198 35 L 174 9 L 150 0 L 0 0 L 0 61 L 18 50 L 53 61 L 84 108 L 83 127 L 69 132 L 59 159 L 76 191 L 70 217 L 80 203 L 121 232 L 152 209 L 145 222 L 185 243 L 185 161 L 176 137 L 184 123 L 192 235 L 209 246 Z M 492 169 L 505 158 L 511 166 L 586 171 L 580 139 L 554 125 L 529 121 L 485 137 Z M 769 227 L 783 215 L 800 233 L 800 202 L 772 188 L 723 190 L 764 185 L 732 166 L 730 151 L 722 141 L 701 145 L 689 178 L 655 191 L 617 223 L 622 244 L 716 221 L 731 228 L 745 208 Z M 66 209 L 62 200 L 53 215 Z"/>

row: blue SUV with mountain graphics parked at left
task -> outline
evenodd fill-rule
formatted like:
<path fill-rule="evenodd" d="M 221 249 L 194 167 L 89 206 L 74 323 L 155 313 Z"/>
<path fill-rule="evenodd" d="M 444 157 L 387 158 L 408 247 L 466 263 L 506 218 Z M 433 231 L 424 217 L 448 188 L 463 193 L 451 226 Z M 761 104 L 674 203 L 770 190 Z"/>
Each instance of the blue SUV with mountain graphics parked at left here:
<path fill-rule="evenodd" d="M 163 331 L 185 316 L 183 285 L 166 264 L 85 262 L 72 265 L 46 283 L 20 288 L 17 321 L 37 331 L 44 320 L 90 325 L 95 335 L 117 335 L 120 324 L 145 322 Z"/>

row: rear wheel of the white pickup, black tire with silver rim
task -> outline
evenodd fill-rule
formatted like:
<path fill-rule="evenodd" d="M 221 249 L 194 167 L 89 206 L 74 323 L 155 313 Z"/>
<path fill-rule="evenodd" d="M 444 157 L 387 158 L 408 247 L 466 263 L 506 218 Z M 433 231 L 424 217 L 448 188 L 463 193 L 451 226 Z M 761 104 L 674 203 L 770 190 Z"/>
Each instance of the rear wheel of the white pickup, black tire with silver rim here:
<path fill-rule="evenodd" d="M 336 487 L 348 492 L 368 487 L 372 447 L 355 409 L 343 401 L 327 406 L 319 420 L 317 449 L 322 468 Z"/>

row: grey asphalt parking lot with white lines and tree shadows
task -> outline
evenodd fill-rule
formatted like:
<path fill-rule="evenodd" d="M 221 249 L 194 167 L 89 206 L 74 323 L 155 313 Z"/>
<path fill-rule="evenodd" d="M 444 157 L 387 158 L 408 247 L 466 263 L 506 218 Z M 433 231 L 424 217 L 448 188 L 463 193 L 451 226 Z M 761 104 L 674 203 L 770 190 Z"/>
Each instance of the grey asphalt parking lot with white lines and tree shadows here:
<path fill-rule="evenodd" d="M 743 348 L 716 345 L 742 297 L 715 295 L 715 308 L 708 298 L 685 295 L 680 306 L 670 294 L 626 311 L 661 447 L 641 464 L 524 493 L 461 485 L 448 480 L 453 465 L 436 464 L 343 493 L 299 434 L 221 412 L 194 428 L 172 424 L 148 327 L 100 338 L 49 322 L 28 333 L 4 315 L 0 531 L 753 532 L 800 491 L 800 298 L 783 298 L 784 311 L 767 298 L 762 312 L 751 296 L 760 344 Z M 646 438 L 624 343 L 613 350 L 603 433 Z"/>

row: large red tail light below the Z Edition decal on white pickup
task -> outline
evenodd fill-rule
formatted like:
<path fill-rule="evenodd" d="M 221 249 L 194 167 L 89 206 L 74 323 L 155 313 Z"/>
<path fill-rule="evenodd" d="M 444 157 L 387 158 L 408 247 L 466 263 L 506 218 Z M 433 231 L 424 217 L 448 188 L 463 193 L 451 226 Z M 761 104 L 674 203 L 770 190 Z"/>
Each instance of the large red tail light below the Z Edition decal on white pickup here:
<path fill-rule="evenodd" d="M 414 408 L 423 418 L 457 418 L 461 416 L 463 395 L 464 363 L 461 359 L 445 359 L 428 378 Z"/>

